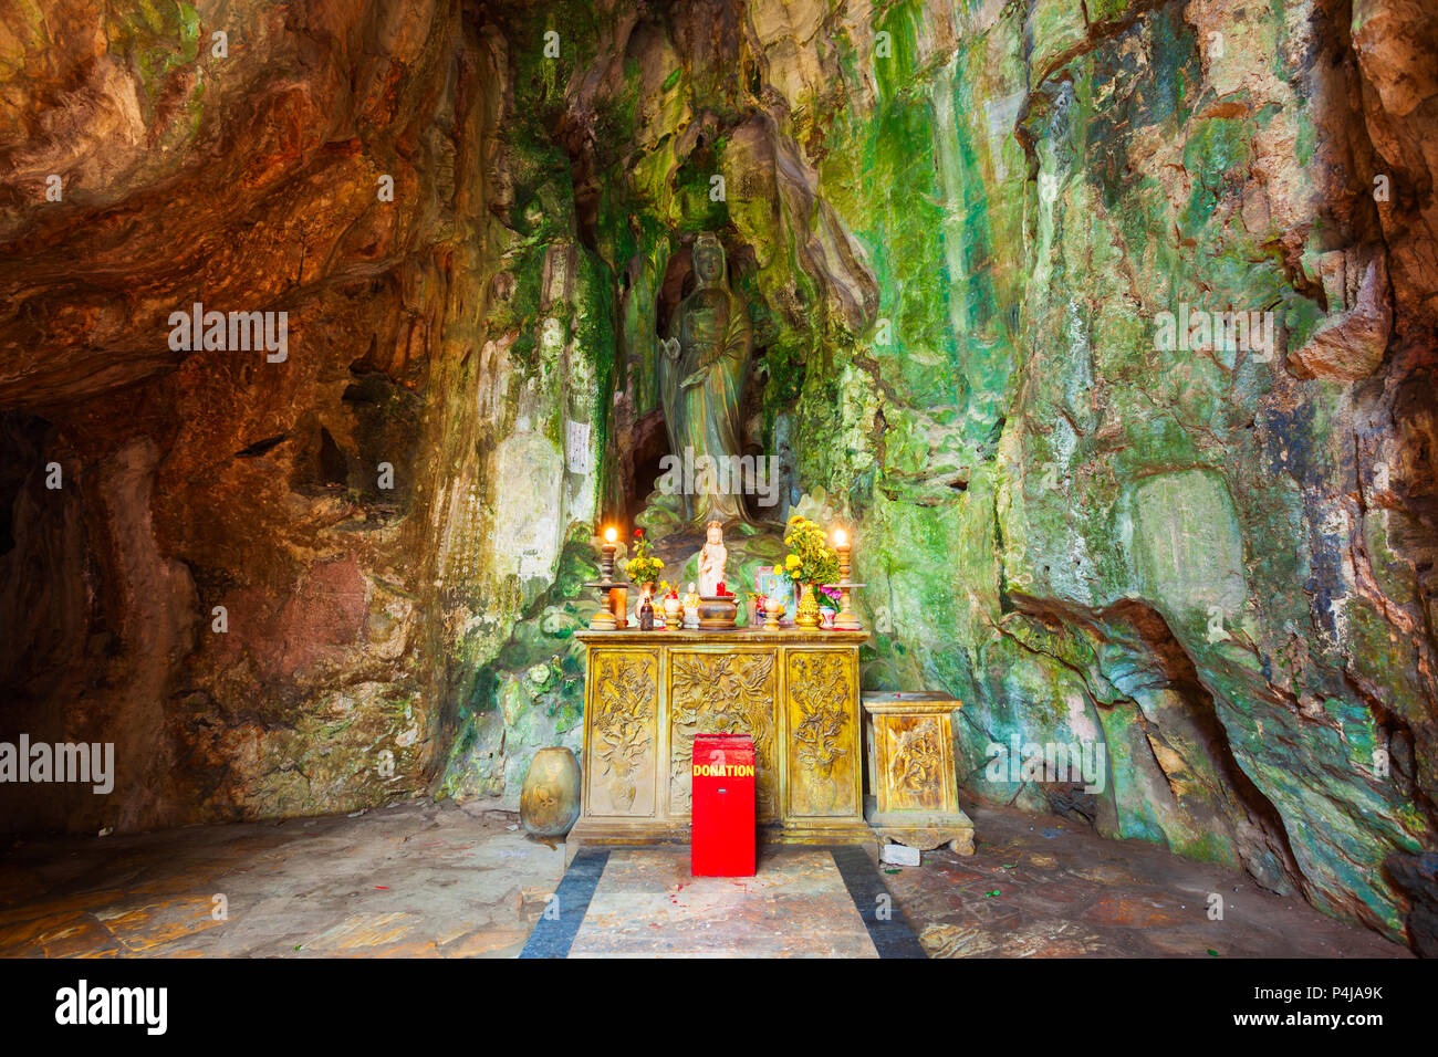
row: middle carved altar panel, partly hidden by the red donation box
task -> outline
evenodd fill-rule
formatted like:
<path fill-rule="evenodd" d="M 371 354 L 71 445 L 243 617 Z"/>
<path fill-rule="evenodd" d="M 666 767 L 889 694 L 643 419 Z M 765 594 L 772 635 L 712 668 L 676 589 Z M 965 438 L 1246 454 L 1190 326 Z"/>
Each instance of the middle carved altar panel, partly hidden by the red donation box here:
<path fill-rule="evenodd" d="M 746 733 L 758 756 L 755 807 L 778 815 L 774 697 L 775 651 L 676 650 L 669 674 L 669 814 L 690 813 L 696 733 Z"/>

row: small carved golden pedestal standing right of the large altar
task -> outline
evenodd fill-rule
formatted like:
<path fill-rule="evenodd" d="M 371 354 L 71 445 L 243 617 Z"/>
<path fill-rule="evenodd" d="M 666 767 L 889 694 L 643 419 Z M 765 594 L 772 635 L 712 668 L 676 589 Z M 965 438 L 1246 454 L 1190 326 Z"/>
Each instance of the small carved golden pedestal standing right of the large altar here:
<path fill-rule="evenodd" d="M 864 818 L 883 840 L 974 854 L 974 823 L 959 810 L 952 713 L 959 702 L 928 690 L 866 692 L 869 784 Z"/>

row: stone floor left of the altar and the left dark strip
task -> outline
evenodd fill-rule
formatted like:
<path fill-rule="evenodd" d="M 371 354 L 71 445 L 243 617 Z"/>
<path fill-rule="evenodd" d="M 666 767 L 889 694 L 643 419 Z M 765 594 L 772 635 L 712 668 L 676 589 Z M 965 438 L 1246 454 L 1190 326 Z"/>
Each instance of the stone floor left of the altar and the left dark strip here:
<path fill-rule="evenodd" d="M 24 840 L 0 851 L 0 956 L 509 958 L 564 873 L 564 846 L 531 841 L 516 823 L 408 801 Z"/>

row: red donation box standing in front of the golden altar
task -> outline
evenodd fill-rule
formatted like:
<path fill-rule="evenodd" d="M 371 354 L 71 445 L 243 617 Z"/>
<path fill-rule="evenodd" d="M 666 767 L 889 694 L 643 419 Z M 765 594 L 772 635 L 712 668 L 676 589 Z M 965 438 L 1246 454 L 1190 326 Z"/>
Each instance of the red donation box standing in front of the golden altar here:
<path fill-rule="evenodd" d="M 754 876 L 754 739 L 695 736 L 690 870 L 695 877 Z"/>

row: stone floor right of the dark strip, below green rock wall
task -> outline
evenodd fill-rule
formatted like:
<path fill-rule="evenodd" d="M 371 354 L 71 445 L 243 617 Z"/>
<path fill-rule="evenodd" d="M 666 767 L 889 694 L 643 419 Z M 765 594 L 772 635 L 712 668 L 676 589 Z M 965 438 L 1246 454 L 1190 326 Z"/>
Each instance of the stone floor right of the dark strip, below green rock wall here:
<path fill-rule="evenodd" d="M 1104 840 L 1051 815 L 965 804 L 974 856 L 883 867 L 930 958 L 1411 958 L 1237 870 Z M 1208 916 L 1222 896 L 1222 920 Z"/>

